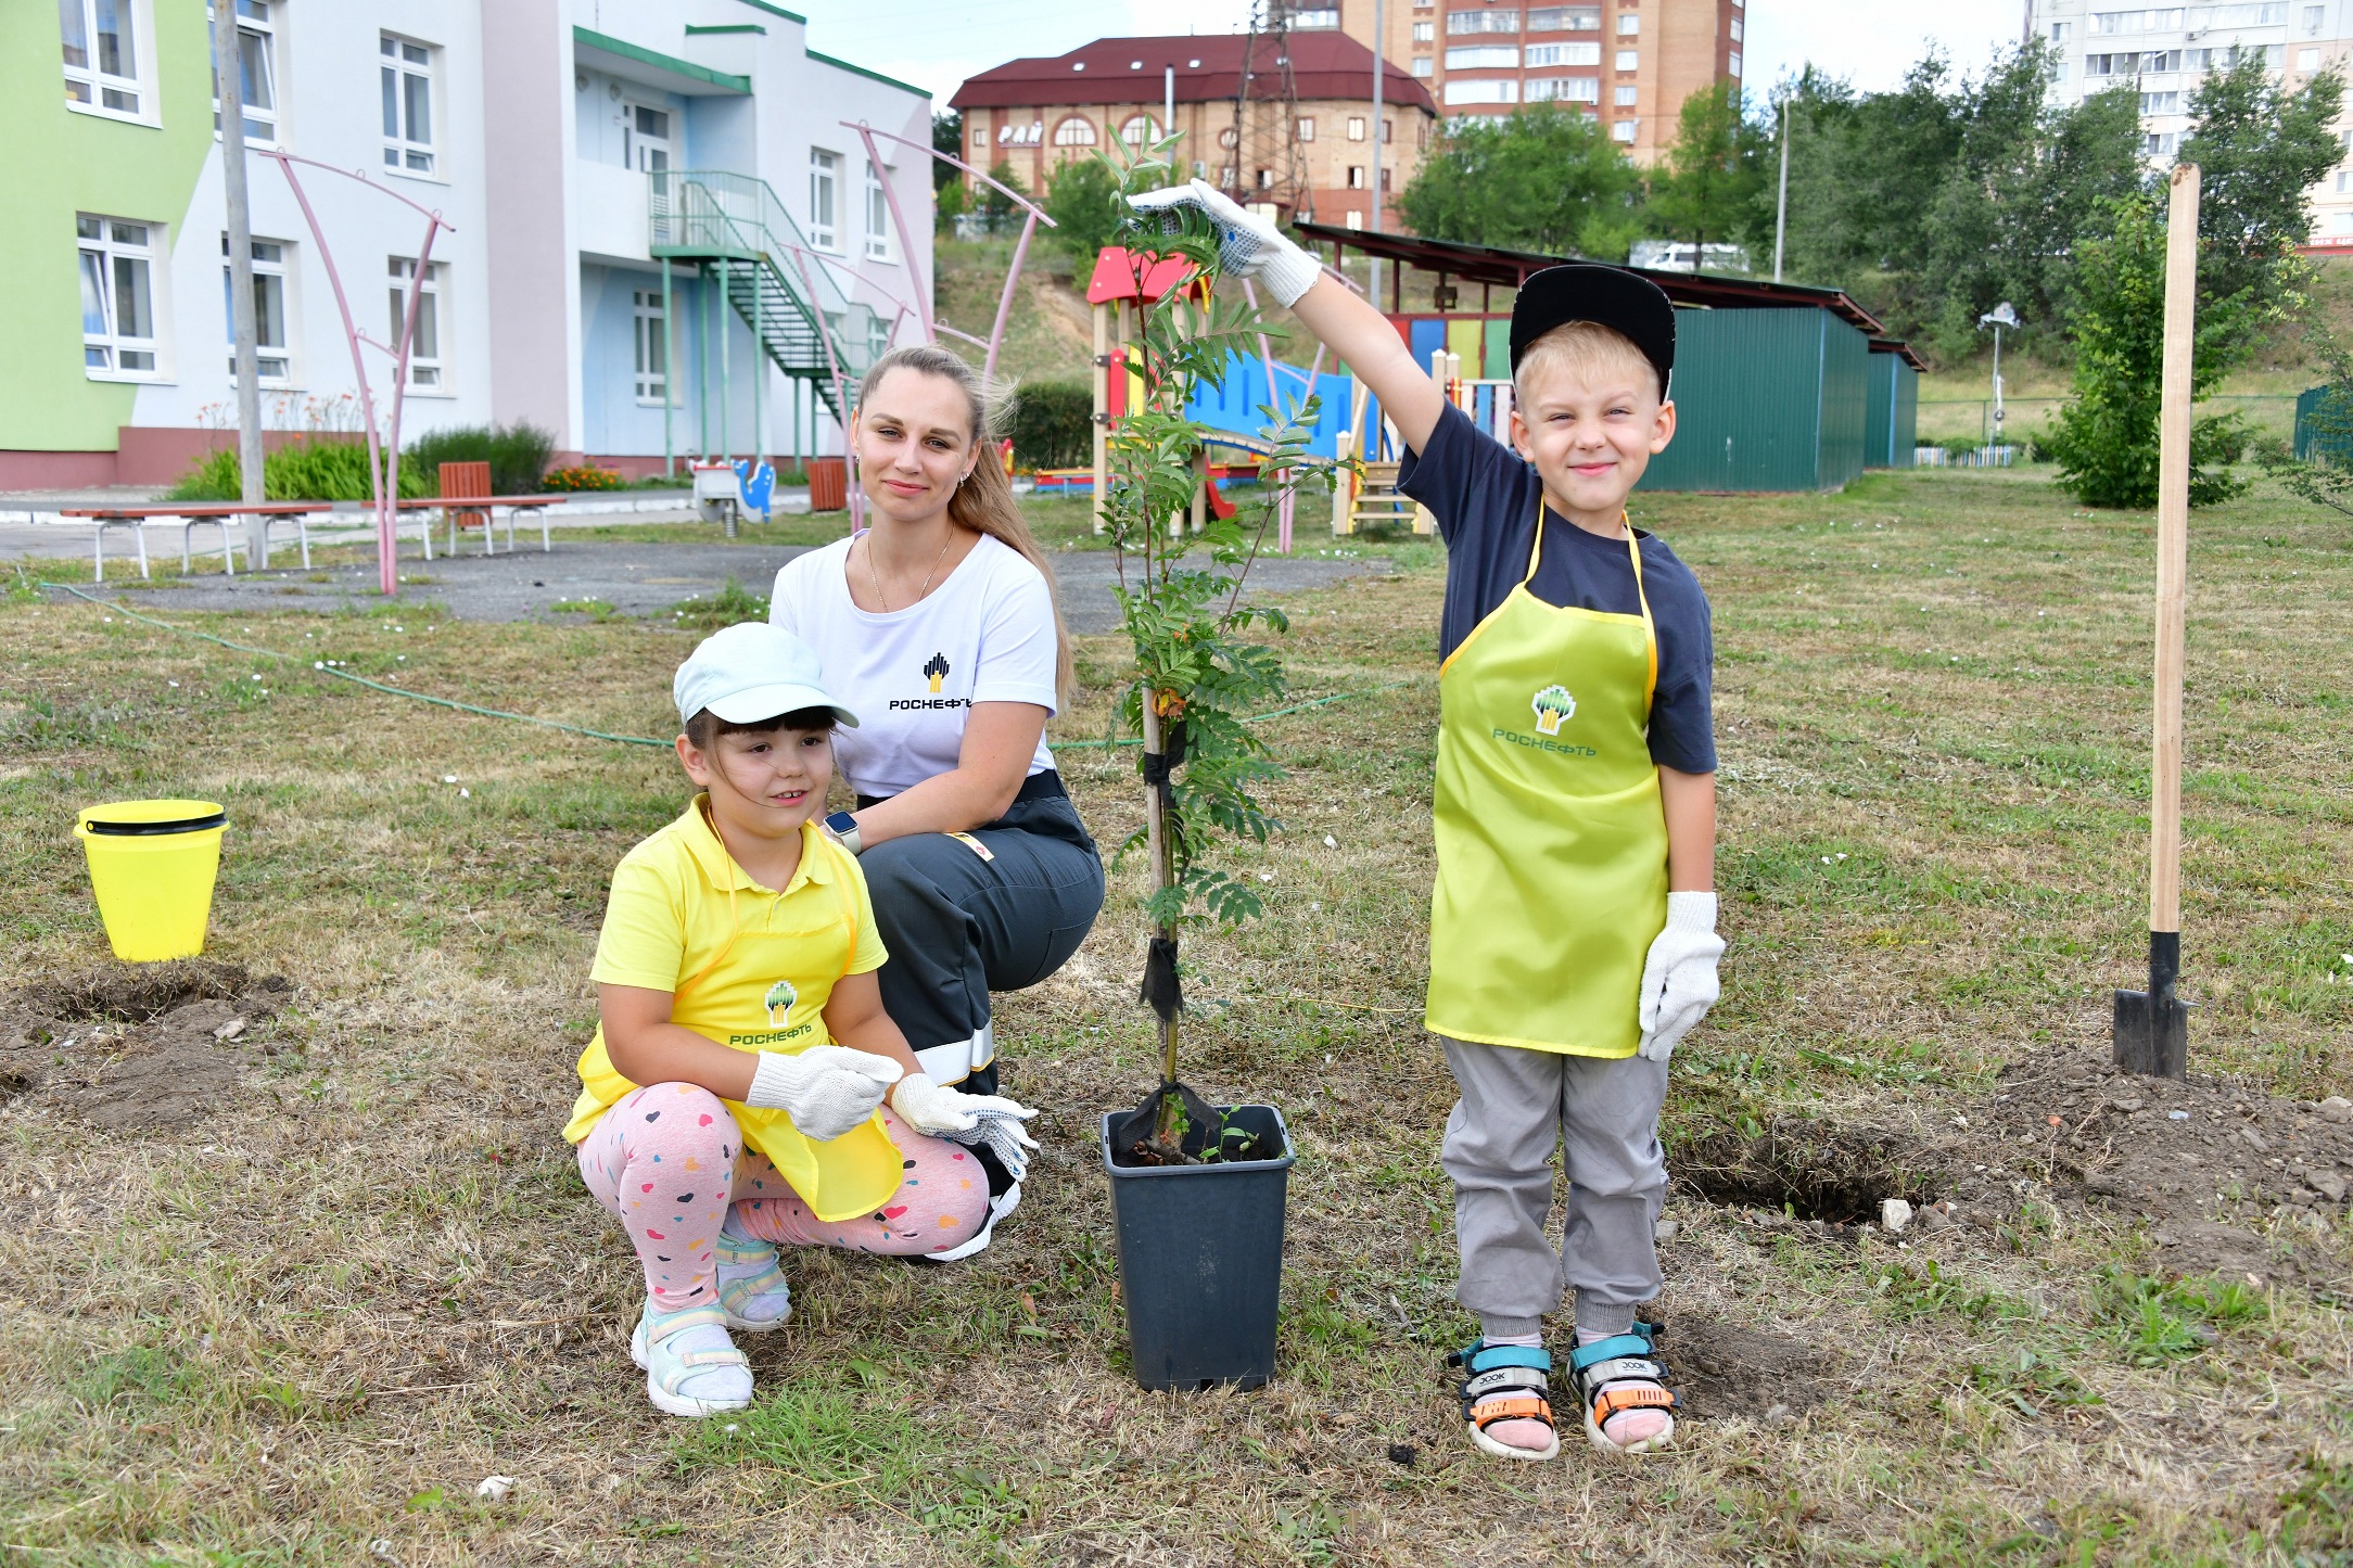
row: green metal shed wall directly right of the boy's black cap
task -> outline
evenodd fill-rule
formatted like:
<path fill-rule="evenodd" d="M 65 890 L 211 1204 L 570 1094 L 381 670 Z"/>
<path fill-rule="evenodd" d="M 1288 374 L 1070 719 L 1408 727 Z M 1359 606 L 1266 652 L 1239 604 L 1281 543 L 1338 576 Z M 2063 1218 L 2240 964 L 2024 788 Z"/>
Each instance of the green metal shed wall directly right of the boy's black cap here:
<path fill-rule="evenodd" d="M 1675 440 L 1640 489 L 1838 489 L 1864 473 L 1871 341 L 1828 310 L 1675 310 Z"/>

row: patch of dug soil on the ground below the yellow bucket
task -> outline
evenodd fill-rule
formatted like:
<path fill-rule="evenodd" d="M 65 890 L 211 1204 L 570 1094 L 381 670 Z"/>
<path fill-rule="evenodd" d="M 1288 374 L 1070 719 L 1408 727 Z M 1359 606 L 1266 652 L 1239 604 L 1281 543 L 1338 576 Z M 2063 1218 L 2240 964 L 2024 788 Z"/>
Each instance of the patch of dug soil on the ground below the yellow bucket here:
<path fill-rule="evenodd" d="M 40 1091 L 115 1133 L 186 1126 L 275 1051 L 261 1025 L 292 994 L 285 976 L 193 959 L 31 985 L 0 1020 L 0 1100 Z"/>

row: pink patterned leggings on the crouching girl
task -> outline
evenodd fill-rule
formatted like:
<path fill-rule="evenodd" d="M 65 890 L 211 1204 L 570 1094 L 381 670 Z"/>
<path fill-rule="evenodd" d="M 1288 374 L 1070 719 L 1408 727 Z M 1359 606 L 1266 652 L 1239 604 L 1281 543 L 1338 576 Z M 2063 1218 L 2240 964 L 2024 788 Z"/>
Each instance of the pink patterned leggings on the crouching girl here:
<path fill-rule="evenodd" d="M 889 1110 L 906 1182 L 878 1211 L 819 1220 L 760 1150 L 746 1150 L 727 1103 L 699 1084 L 647 1084 L 581 1138 L 581 1180 L 638 1246 L 656 1312 L 718 1300 L 713 1244 L 729 1206 L 736 1227 L 781 1246 L 854 1253 L 941 1253 L 988 1213 L 988 1175 L 962 1145 L 925 1138 Z"/>

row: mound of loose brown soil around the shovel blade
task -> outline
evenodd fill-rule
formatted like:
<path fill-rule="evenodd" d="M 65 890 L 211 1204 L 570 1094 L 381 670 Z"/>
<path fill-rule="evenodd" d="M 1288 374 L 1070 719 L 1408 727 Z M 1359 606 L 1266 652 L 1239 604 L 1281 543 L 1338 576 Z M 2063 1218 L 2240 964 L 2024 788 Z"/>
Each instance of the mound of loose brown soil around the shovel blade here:
<path fill-rule="evenodd" d="M 2315 1251 L 2254 1227 L 2334 1218 L 2353 1192 L 2353 1107 L 2341 1100 L 2282 1100 L 2198 1072 L 2144 1079 L 2104 1048 L 2005 1067 L 1981 1117 L 2002 1168 L 1969 1171 L 1955 1197 L 2005 1171 L 2047 1182 L 2064 1204 L 2148 1220 L 2160 1262 L 2179 1274 L 2322 1272 Z"/>

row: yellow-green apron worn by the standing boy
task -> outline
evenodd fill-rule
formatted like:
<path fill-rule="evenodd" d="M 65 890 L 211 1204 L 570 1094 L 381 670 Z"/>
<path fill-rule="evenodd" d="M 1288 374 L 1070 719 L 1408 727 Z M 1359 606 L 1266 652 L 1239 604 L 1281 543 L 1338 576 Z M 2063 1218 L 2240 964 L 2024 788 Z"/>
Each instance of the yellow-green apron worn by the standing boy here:
<path fill-rule="evenodd" d="M 1438 672 L 1438 891 L 1426 1025 L 1485 1046 L 1633 1056 L 1642 959 L 1666 926 L 1666 813 L 1649 759 L 1659 632 L 1565 609 L 1527 576 Z"/>

